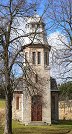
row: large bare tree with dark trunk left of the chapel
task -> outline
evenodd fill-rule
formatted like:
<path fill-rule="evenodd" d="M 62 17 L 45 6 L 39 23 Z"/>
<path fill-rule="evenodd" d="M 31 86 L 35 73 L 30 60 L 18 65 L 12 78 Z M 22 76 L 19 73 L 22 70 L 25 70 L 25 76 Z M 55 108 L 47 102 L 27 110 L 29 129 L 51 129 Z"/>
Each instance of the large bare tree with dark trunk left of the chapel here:
<path fill-rule="evenodd" d="M 22 45 L 30 34 L 25 32 L 23 23 L 26 23 L 27 16 L 33 15 L 36 7 L 37 1 L 9 0 L 3 3 L 0 0 L 0 78 L 6 99 L 4 134 L 12 134 L 12 97 L 19 81 L 16 75 L 25 76 Z M 29 85 L 34 85 L 28 78 L 26 80 Z"/>

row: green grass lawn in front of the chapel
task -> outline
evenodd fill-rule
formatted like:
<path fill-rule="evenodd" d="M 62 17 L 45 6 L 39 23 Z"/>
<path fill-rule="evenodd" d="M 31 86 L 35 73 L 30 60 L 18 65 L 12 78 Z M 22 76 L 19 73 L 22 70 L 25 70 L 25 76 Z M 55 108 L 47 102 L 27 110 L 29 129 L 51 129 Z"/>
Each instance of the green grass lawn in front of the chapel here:
<path fill-rule="evenodd" d="M 5 101 L 0 100 L 0 109 L 5 107 Z M 4 120 L 4 117 L 3 117 Z M 0 122 L 0 134 L 3 134 L 4 126 Z M 60 121 L 51 126 L 24 126 L 13 121 L 13 134 L 72 134 L 72 121 Z"/>

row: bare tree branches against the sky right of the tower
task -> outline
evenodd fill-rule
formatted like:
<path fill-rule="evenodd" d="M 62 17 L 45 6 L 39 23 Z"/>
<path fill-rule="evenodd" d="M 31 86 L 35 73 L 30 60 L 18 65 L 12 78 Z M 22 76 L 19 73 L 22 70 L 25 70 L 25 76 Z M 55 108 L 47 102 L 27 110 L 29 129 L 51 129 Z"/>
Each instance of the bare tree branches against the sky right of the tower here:
<path fill-rule="evenodd" d="M 59 32 L 55 42 L 57 45 L 55 44 L 56 47 L 52 51 L 52 61 L 59 65 L 59 78 L 72 80 L 72 2 L 71 0 L 52 0 L 48 1 L 48 6 L 46 18 L 48 17 L 50 32 Z M 57 46 L 60 48 L 57 49 Z"/>

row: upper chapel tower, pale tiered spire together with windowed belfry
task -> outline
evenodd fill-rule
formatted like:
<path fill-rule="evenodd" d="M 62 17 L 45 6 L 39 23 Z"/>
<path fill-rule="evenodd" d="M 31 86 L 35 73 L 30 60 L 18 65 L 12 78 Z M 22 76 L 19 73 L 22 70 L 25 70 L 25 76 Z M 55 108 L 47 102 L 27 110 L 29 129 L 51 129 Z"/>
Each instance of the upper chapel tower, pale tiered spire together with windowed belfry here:
<path fill-rule="evenodd" d="M 50 46 L 47 42 L 45 24 L 42 18 L 35 14 L 26 24 L 29 43 L 24 45 L 25 58 L 36 68 L 47 69 L 49 66 Z"/>

